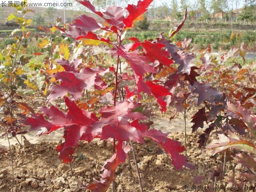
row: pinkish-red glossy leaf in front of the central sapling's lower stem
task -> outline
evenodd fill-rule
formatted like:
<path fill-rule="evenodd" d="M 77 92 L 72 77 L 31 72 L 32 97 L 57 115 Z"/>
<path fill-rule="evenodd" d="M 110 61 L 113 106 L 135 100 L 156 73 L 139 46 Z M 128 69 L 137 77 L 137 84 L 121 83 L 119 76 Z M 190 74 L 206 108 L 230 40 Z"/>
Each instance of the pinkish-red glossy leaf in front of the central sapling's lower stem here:
<path fill-rule="evenodd" d="M 131 124 L 131 120 L 148 119 L 142 113 L 133 112 L 140 105 L 135 102 L 118 103 L 115 107 L 101 108 L 101 118 L 93 123 L 93 128 L 102 128 L 102 140 L 113 138 L 119 142 L 133 140 L 144 143 L 142 132 Z"/>

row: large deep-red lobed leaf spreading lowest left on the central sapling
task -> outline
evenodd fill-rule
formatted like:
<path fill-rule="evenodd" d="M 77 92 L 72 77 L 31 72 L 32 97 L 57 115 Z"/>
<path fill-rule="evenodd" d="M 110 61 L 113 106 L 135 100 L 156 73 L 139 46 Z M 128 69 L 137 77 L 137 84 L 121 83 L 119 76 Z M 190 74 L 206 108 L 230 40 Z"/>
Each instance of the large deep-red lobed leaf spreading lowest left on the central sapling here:
<path fill-rule="evenodd" d="M 67 97 L 64 97 L 64 99 L 69 109 L 67 113 L 59 111 L 54 106 L 50 108 L 41 107 L 40 110 L 49 117 L 49 122 L 42 115 L 35 116 L 34 114 L 32 114 L 32 117 L 24 119 L 23 122 L 25 125 L 30 125 L 31 130 L 46 127 L 48 130 L 46 134 L 64 127 L 65 142 L 57 149 L 60 151 L 60 157 L 64 162 L 70 162 L 69 155 L 73 154 L 71 153 L 71 148 L 77 145 L 83 134 L 92 134 L 94 130 L 92 130 L 90 125 L 96 122 L 98 118 L 94 114 L 77 107 L 76 103 Z"/>

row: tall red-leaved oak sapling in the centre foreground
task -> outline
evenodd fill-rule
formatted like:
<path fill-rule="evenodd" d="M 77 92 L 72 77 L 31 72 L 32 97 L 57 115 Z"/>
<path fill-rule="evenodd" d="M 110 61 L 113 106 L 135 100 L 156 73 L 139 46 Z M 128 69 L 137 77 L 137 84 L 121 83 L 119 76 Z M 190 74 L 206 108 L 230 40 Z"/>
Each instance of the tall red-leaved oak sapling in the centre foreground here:
<path fill-rule="evenodd" d="M 110 6 L 105 12 L 99 12 L 89 0 L 79 1 L 91 12 L 101 17 L 104 22 L 98 23 L 93 17 L 81 15 L 68 25 L 67 29 L 55 27 L 64 35 L 76 41 L 82 41 L 84 44 L 105 45 L 106 51 L 116 59 L 116 64 L 111 67 L 95 64 L 95 67 L 91 67 L 82 65 L 81 60 L 79 62 L 76 59 L 73 61 L 58 60 L 58 64 L 64 67 L 65 71 L 53 75 L 59 83 L 50 87 L 49 90 L 52 92 L 48 99 L 51 101 L 59 97 L 63 98 L 68 108 L 67 113 L 53 105 L 43 106 L 40 110 L 47 116 L 47 120 L 43 114 L 32 114 L 31 117 L 23 120 L 26 125 L 31 126 L 32 131 L 47 128 L 44 134 L 65 128 L 65 141 L 56 148 L 63 163 L 72 161 L 74 148 L 79 140 L 90 143 L 93 139 L 100 138 L 113 144 L 113 155 L 103 166 L 102 178 L 84 186 L 94 192 L 103 192 L 109 188 L 115 179 L 116 167 L 125 162 L 128 151 L 131 149 L 128 141 L 145 143 L 143 137 L 151 138 L 157 145 L 160 145 L 172 158 L 172 164 L 176 169 L 181 170 L 183 166 L 193 169 L 186 157 L 180 154 L 185 149 L 180 142 L 167 138 L 168 133 L 148 128 L 143 122 L 148 117 L 141 110 L 142 94 L 145 93 L 154 99 L 160 111 L 166 112 L 167 99 L 172 96 L 172 93 L 161 79 L 157 79 L 157 74 L 166 69 L 175 70 L 174 58 L 172 58 L 175 50 L 170 48 L 171 41 L 164 37 L 143 42 L 134 37 L 124 39 L 124 32 L 142 18 L 151 2 L 152 0 L 139 1 L 137 5 L 128 5 L 125 9 Z M 180 30 L 184 20 L 173 35 Z M 100 35 L 102 31 L 106 32 L 105 35 Z M 121 60 L 128 63 L 127 73 L 119 73 Z M 187 66 L 180 65 L 178 73 L 182 75 Z M 188 70 L 186 69 L 186 72 Z M 105 74 L 114 76 L 114 81 L 107 82 L 104 78 Z M 126 98 L 119 102 L 118 98 L 121 95 L 119 95 L 118 88 L 121 81 L 127 84 Z M 110 89 L 111 86 L 113 89 Z M 83 96 L 83 91 L 93 88 L 94 90 L 107 90 L 106 93 L 111 93 L 112 103 L 100 108 L 97 112 L 79 108 L 77 102 Z"/>

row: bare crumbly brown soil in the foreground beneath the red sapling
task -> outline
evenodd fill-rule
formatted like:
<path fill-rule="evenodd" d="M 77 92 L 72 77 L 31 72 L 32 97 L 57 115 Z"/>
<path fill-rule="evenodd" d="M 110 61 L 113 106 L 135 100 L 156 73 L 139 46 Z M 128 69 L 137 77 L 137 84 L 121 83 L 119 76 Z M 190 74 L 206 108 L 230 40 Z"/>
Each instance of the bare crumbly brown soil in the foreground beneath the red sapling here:
<path fill-rule="evenodd" d="M 61 133 L 60 133 L 61 135 Z M 169 135 L 174 140 L 184 143 L 183 132 L 174 131 Z M 223 163 L 223 155 L 211 155 L 209 150 L 202 151 L 197 147 L 198 133 L 190 134 L 187 139 L 187 155 L 189 163 L 195 169 L 175 170 L 171 158 L 154 142 L 145 140 L 145 145 L 135 144 L 138 165 L 140 167 L 145 192 L 183 192 L 188 191 L 184 186 L 212 187 L 212 173 L 216 166 Z M 56 141 L 56 140 L 55 140 Z M 23 147 L 12 145 L 14 162 L 14 191 L 15 192 L 77 192 L 81 183 L 86 185 L 93 182 L 93 177 L 100 176 L 100 169 L 105 160 L 111 157 L 112 146 L 105 141 L 93 141 L 90 144 L 80 142 L 73 155 L 73 177 L 69 164 L 58 160 L 55 151 L 57 143 L 41 141 L 29 143 L 24 140 Z M 1 152 L 0 152 L 1 153 Z M 233 160 L 233 155 L 227 155 L 225 175 L 236 176 L 233 172 L 241 171 L 241 166 Z M 131 156 L 132 157 L 132 156 Z M 12 168 L 9 153 L 0 154 L 0 192 L 10 191 L 12 186 Z M 116 192 L 140 192 L 134 162 L 131 160 L 131 170 L 128 161 L 116 170 Z M 197 176 L 204 176 L 201 182 L 195 182 Z M 232 186 L 227 179 L 218 177 L 217 186 Z M 251 186 L 250 183 L 246 183 Z M 109 192 L 111 189 L 108 190 Z M 195 190 L 197 191 L 197 190 Z M 209 191 L 209 190 L 207 190 Z"/>

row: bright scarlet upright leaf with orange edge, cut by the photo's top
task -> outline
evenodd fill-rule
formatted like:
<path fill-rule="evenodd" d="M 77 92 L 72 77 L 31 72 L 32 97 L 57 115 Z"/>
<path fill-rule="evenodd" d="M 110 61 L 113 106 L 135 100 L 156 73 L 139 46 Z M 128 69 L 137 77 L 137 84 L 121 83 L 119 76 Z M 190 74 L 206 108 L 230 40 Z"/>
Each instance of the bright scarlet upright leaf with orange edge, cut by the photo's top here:
<path fill-rule="evenodd" d="M 126 9 L 128 10 L 129 15 L 123 20 L 125 28 L 132 27 L 136 19 L 140 17 L 140 15 L 143 15 L 152 1 L 153 0 L 140 0 L 137 6 L 128 5 Z"/>

